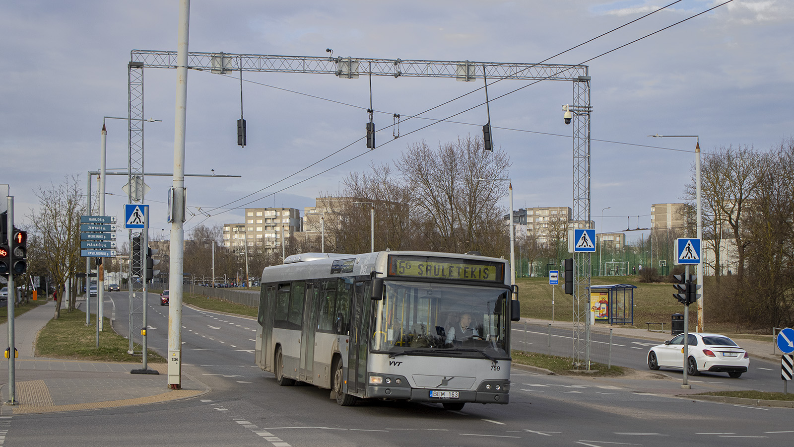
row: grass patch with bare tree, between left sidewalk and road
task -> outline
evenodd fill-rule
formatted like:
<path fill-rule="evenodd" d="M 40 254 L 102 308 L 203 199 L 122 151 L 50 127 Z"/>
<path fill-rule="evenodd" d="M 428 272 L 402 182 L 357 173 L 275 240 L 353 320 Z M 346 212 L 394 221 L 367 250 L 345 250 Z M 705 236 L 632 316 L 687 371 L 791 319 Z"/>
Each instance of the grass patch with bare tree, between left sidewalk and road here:
<path fill-rule="evenodd" d="M 95 324 L 95 321 L 94 321 Z M 94 360 L 98 362 L 140 362 L 140 356 L 130 356 L 129 340 L 114 332 L 110 320 L 105 319 L 96 343 L 96 326 L 86 325 L 86 313 L 61 310 L 60 318 L 51 320 L 38 334 L 36 356 L 67 360 Z M 165 359 L 148 351 L 148 363 L 166 363 Z"/>

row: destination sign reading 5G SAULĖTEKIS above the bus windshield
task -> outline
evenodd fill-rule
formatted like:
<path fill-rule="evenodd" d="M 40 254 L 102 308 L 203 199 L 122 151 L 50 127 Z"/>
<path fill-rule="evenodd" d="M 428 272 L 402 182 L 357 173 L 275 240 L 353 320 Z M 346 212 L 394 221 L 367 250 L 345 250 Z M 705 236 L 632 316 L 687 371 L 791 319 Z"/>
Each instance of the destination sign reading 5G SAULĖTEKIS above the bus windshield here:
<path fill-rule="evenodd" d="M 425 256 L 389 256 L 389 276 L 503 282 L 502 262 Z"/>

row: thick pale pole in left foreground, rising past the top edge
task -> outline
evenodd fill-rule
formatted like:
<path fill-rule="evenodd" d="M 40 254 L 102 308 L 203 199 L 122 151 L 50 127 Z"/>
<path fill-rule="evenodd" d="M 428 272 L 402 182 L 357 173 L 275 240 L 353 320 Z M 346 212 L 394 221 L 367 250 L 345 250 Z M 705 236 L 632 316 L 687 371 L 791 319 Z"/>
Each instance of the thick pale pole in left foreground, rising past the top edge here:
<path fill-rule="evenodd" d="M 185 212 L 185 123 L 187 122 L 187 37 L 190 23 L 190 0 L 179 2 L 179 36 L 177 37 L 176 107 L 174 119 L 174 197 L 171 223 L 171 260 L 168 278 L 168 387 L 182 389 L 182 273 L 184 269 L 183 227 Z M 213 245 L 214 247 L 214 245 Z M 214 262 L 213 262 L 214 270 Z M 214 272 L 213 272 L 214 274 Z M 213 279 L 214 284 L 214 279 Z"/>

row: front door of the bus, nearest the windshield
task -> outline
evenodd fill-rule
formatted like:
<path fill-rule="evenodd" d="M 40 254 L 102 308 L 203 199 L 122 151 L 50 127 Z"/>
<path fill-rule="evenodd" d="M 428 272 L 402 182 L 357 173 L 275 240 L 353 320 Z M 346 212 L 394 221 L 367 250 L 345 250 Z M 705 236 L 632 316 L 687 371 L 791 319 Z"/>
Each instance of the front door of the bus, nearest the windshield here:
<path fill-rule="evenodd" d="M 369 282 L 356 282 L 353 301 L 353 330 L 350 332 L 350 361 L 348 363 L 348 391 L 365 395 L 367 392 L 367 354 L 369 352 L 370 309 Z"/>

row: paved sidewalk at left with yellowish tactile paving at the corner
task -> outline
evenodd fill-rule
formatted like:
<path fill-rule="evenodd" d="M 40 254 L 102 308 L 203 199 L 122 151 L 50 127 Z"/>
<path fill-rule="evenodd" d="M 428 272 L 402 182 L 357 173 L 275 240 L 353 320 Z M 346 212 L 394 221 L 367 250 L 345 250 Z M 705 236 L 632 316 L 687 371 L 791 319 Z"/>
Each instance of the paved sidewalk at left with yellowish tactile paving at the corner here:
<path fill-rule="evenodd" d="M 0 415 L 91 410 L 167 402 L 202 395 L 209 389 L 184 374 L 181 390 L 169 390 L 165 364 L 149 364 L 160 375 L 130 374 L 141 363 L 104 363 L 33 357 L 36 334 L 55 313 L 55 302 L 31 309 L 14 319 L 16 400 L 9 402 L 9 360 L 0 366 Z M 8 325 L 0 325 L 0 346 L 8 346 Z"/>

